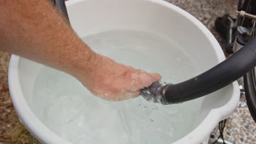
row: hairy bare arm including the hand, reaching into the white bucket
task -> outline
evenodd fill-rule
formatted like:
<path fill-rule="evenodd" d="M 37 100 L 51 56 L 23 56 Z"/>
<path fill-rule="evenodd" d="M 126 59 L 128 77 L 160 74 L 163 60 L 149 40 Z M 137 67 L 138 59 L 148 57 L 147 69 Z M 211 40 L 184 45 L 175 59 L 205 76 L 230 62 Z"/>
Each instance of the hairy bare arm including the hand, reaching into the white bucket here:
<path fill-rule="evenodd" d="M 161 79 L 92 51 L 47 0 L 0 1 L 0 50 L 65 71 L 107 100 L 137 97 Z"/>

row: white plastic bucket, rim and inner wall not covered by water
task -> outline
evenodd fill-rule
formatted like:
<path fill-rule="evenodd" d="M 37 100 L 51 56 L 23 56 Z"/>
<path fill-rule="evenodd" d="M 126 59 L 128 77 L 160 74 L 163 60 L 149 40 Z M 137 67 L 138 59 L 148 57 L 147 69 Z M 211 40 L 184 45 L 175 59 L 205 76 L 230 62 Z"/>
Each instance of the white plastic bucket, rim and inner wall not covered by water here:
<path fill-rule="evenodd" d="M 176 41 L 177 45 L 182 47 L 184 55 L 193 57 L 193 61 L 197 64 L 194 73 L 184 71 L 188 75 L 180 77 L 176 82 L 200 74 L 225 59 L 217 40 L 200 21 L 165 1 L 73 0 L 67 1 L 66 5 L 71 25 L 82 38 L 104 31 L 132 30 L 158 33 Z M 149 55 L 152 53 L 149 52 Z M 165 60 L 161 59 L 161 61 Z M 9 65 L 11 99 L 20 121 L 40 142 L 69 143 L 46 127 L 33 113 L 31 107 L 33 85 L 42 67 L 44 66 L 27 59 L 11 56 Z M 164 70 L 159 70 L 159 73 L 161 71 Z M 239 94 L 237 82 L 233 82 L 217 92 L 200 98 L 203 104 L 197 111 L 200 116 L 193 129 L 184 133 L 174 143 L 201 143 L 206 140 L 218 122 L 229 117 L 235 110 Z"/>

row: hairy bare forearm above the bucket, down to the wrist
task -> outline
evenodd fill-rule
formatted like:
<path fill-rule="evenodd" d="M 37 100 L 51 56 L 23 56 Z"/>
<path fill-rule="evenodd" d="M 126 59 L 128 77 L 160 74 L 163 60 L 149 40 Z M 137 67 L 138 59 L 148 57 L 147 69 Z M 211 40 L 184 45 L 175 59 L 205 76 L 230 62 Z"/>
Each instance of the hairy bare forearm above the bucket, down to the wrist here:
<path fill-rule="evenodd" d="M 74 76 L 81 68 L 86 74 L 95 67 L 96 53 L 77 37 L 48 1 L 1 1 L 0 19 L 0 50 Z"/>

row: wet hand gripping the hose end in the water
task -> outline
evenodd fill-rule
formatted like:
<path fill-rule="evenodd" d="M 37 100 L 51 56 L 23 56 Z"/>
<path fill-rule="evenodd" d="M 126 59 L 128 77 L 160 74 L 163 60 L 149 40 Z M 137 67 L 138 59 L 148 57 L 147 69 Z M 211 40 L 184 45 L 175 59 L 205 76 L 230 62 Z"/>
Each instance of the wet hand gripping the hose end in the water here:
<path fill-rule="evenodd" d="M 97 67 L 91 75 L 78 79 L 91 93 L 105 100 L 120 101 L 138 97 L 139 89 L 161 79 L 159 74 L 146 73 L 101 55 L 97 55 L 96 59 Z"/>

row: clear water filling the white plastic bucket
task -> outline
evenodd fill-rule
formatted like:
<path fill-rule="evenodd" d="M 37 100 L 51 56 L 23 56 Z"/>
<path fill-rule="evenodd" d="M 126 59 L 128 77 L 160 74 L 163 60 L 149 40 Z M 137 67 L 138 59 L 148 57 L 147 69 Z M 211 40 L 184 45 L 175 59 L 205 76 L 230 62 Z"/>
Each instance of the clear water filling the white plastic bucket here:
<path fill-rule="evenodd" d="M 196 63 L 165 35 L 109 31 L 83 38 L 94 51 L 117 62 L 160 73 L 177 83 L 196 75 Z M 161 105 L 142 97 L 106 101 L 74 77 L 43 67 L 34 82 L 33 111 L 47 127 L 72 143 L 171 143 L 197 124 L 202 98 Z"/>

